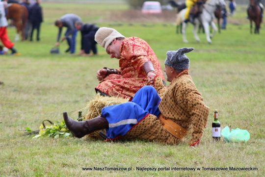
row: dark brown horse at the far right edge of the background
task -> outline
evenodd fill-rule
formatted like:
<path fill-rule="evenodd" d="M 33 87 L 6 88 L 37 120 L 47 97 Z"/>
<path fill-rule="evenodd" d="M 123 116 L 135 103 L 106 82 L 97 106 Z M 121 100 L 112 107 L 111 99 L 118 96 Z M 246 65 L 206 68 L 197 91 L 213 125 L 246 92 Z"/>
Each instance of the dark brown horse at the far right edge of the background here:
<path fill-rule="evenodd" d="M 260 25 L 262 23 L 262 10 L 257 0 L 249 0 L 249 8 L 247 9 L 247 15 L 250 21 L 250 33 L 252 33 L 252 21 L 255 23 L 254 33 L 260 33 Z"/>

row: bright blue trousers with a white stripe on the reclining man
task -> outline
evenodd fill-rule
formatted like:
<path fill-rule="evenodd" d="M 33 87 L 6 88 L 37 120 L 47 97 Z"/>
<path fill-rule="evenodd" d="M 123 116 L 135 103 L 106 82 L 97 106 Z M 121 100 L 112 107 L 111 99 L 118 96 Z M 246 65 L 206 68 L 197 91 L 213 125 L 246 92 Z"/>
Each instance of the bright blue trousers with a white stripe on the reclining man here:
<path fill-rule="evenodd" d="M 135 93 L 131 102 L 104 107 L 101 117 L 106 118 L 108 122 L 107 138 L 114 139 L 124 136 L 149 114 L 158 117 L 160 101 L 161 99 L 154 87 L 144 86 Z"/>

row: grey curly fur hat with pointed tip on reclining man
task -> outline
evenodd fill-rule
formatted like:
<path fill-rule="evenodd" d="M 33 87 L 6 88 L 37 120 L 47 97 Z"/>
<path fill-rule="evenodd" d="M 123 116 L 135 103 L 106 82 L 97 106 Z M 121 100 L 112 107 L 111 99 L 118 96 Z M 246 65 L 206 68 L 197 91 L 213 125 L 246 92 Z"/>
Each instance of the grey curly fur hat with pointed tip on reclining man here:
<path fill-rule="evenodd" d="M 189 59 L 184 53 L 187 53 L 193 50 L 194 48 L 180 48 L 177 51 L 167 51 L 165 65 L 171 66 L 177 71 L 188 69 Z"/>

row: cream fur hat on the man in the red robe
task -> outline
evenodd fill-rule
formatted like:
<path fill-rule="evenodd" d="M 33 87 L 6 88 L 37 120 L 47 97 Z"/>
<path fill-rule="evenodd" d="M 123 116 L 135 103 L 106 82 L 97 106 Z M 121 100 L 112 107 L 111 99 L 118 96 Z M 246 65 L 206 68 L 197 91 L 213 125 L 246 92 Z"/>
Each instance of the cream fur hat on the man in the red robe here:
<path fill-rule="evenodd" d="M 119 33 L 116 29 L 109 27 L 101 27 L 95 34 L 95 41 L 106 50 L 108 45 L 114 39 L 119 37 L 124 37 L 124 36 L 121 33 Z"/>

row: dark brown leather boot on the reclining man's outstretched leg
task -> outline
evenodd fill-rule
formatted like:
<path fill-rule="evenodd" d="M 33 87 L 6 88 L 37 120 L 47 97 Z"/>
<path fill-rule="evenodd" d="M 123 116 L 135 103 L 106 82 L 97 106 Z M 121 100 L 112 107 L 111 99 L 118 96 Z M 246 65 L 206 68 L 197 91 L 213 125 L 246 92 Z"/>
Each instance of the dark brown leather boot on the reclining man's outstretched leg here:
<path fill-rule="evenodd" d="M 63 119 L 67 128 L 77 138 L 82 138 L 89 133 L 93 133 L 94 131 L 108 127 L 108 122 L 106 119 L 100 116 L 87 121 L 78 122 L 68 117 L 67 112 L 64 112 Z"/>

